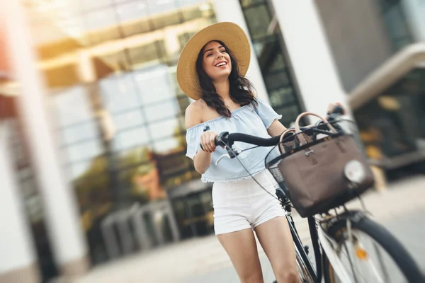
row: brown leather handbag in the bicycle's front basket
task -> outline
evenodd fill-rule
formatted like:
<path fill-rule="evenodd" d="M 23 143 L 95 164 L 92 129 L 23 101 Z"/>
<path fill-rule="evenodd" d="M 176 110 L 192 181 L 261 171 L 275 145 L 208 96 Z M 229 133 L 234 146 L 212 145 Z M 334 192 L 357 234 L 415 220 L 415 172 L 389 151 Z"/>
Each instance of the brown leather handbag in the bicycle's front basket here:
<path fill-rule="evenodd" d="M 300 134 L 299 125 L 305 115 L 314 115 L 327 123 L 312 112 L 300 114 L 295 121 L 294 135 L 300 145 L 290 152 L 281 146 L 282 159 L 275 168 L 269 168 L 275 178 L 281 174 L 288 187 L 286 193 L 302 217 L 339 207 L 374 183 L 373 173 L 351 135 L 332 137 L 330 134 L 317 141 L 306 139 Z M 328 126 L 331 132 L 338 134 L 334 127 Z M 280 141 L 288 132 L 291 131 L 283 132 Z"/>

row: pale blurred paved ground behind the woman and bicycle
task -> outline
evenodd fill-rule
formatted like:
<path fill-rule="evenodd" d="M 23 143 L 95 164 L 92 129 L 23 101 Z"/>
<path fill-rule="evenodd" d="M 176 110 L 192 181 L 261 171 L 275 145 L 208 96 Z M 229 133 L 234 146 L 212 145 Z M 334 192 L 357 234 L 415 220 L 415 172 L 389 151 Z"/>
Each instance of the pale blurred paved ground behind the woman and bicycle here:
<path fill-rule="evenodd" d="M 425 177 L 392 183 L 385 192 L 369 192 L 363 198 L 377 221 L 389 229 L 425 270 Z M 358 201 L 349 207 L 360 207 Z M 307 242 L 304 219 L 296 217 L 297 228 Z M 273 271 L 259 248 L 265 282 L 273 282 Z M 109 282 L 239 282 L 227 254 L 215 236 L 195 238 L 152 250 L 91 270 L 77 283 Z"/>

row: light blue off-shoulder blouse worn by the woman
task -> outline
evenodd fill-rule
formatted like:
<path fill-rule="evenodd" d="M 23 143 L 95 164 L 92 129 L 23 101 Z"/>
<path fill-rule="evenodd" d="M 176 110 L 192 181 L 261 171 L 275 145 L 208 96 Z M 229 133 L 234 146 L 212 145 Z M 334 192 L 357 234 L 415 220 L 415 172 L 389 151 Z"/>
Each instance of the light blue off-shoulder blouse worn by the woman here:
<path fill-rule="evenodd" d="M 245 105 L 237 110 L 232 111 L 232 117 L 224 116 L 216 119 L 203 122 L 202 124 L 193 126 L 187 129 L 186 142 L 188 144 L 186 156 L 192 158 L 200 151 L 200 135 L 203 134 L 203 129 L 206 125 L 210 126 L 211 131 L 217 132 L 239 132 L 243 134 L 251 134 L 256 137 L 268 138 L 270 135 L 267 132 L 268 127 L 276 119 L 280 119 L 282 115 L 278 115 L 270 105 L 266 104 L 260 98 L 257 98 L 259 105 L 256 110 L 254 106 Z M 251 144 L 245 144 L 236 141 L 234 148 L 248 149 L 253 147 Z M 273 147 L 257 147 L 248 151 L 242 152 L 237 158 L 244 164 L 251 175 L 255 175 L 265 169 L 264 158 L 273 149 Z M 236 158 L 222 158 L 218 165 L 215 165 L 222 154 L 227 154 L 225 149 L 218 146 L 212 153 L 212 162 L 208 170 L 202 175 L 201 180 L 207 182 L 231 182 L 249 178 L 250 175 L 236 160 Z"/>

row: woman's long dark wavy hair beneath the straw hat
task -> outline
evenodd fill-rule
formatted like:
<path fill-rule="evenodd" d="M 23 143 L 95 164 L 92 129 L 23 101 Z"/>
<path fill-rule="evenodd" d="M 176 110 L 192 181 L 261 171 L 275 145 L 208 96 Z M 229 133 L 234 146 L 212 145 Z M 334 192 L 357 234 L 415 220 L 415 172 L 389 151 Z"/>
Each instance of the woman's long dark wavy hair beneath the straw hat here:
<path fill-rule="evenodd" d="M 253 93 L 254 86 L 252 86 L 251 81 L 239 73 L 237 61 L 225 43 L 219 40 L 215 41 L 220 43 L 222 47 L 225 47 L 227 54 L 229 54 L 230 61 L 232 62 L 232 71 L 229 74 L 230 98 L 234 101 L 234 103 L 241 106 L 252 104 L 254 108 L 256 108 L 258 103 Z M 217 90 L 212 83 L 212 79 L 207 75 L 202 67 L 204 48 L 205 46 L 202 50 L 200 50 L 198 59 L 196 60 L 196 72 L 198 73 L 200 88 L 202 88 L 200 98 L 202 98 L 205 103 L 210 106 L 210 108 L 214 108 L 218 114 L 225 117 L 232 117 L 232 113 L 229 108 L 226 107 L 225 101 L 218 95 Z"/>

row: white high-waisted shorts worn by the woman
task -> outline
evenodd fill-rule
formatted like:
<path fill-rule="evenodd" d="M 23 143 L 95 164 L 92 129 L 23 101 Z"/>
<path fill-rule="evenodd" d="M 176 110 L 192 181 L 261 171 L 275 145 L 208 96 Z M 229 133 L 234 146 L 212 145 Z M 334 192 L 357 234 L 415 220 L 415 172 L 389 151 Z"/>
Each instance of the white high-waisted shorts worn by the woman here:
<path fill-rule="evenodd" d="M 270 173 L 263 171 L 254 175 L 254 178 L 271 195 L 252 178 L 237 182 L 214 183 L 212 202 L 215 235 L 247 228 L 255 229 L 270 219 L 285 215 L 276 199 L 276 181 Z"/>

